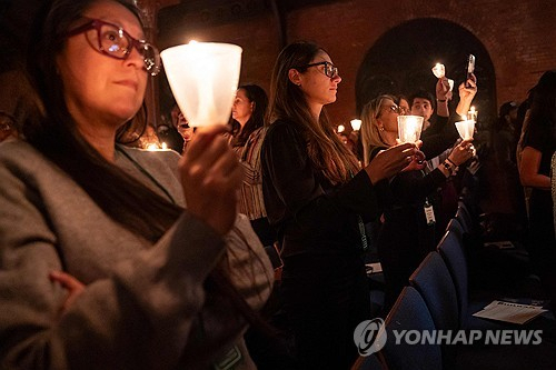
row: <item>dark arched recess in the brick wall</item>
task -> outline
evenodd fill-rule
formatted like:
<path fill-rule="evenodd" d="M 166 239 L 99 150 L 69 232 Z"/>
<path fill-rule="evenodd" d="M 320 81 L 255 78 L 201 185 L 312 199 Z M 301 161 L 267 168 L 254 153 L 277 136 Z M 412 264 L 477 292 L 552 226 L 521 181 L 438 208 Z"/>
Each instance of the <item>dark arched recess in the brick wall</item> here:
<path fill-rule="evenodd" d="M 479 91 L 475 104 L 479 121 L 487 124 L 496 117 L 494 64 L 483 42 L 466 28 L 444 19 L 410 20 L 385 32 L 367 51 L 356 80 L 356 109 L 379 93 L 410 94 L 418 88 L 434 93 L 436 62 L 446 66 L 454 89 L 465 79 L 467 54 L 476 57 Z M 457 97 L 455 98 L 457 101 Z M 455 109 L 455 103 L 450 106 Z"/>

